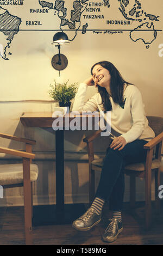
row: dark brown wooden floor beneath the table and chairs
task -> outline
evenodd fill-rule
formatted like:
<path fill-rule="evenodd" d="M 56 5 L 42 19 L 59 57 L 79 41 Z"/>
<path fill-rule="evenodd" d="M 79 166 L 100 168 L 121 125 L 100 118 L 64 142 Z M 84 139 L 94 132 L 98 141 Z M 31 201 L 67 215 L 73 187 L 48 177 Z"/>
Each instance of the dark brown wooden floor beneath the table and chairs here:
<path fill-rule="evenodd" d="M 161 201 L 161 203 L 163 203 Z M 152 228 L 144 228 L 144 206 L 131 212 L 124 203 L 123 231 L 112 243 L 103 242 L 101 236 L 111 217 L 106 204 L 101 223 L 90 231 L 74 230 L 71 224 L 33 227 L 34 245 L 163 245 L 163 204 L 161 214 L 153 210 Z M 154 207 L 153 207 L 154 208 Z M 24 245 L 23 207 L 0 208 L 0 245 Z"/>

